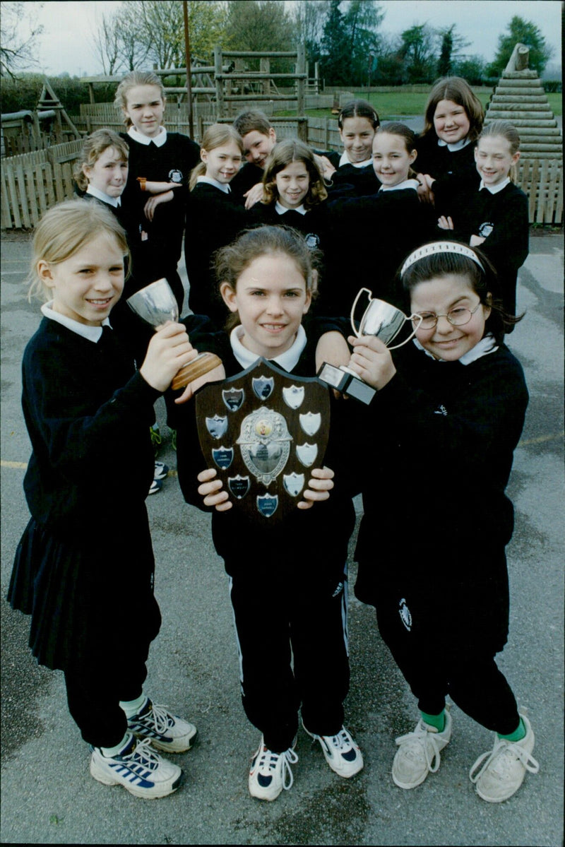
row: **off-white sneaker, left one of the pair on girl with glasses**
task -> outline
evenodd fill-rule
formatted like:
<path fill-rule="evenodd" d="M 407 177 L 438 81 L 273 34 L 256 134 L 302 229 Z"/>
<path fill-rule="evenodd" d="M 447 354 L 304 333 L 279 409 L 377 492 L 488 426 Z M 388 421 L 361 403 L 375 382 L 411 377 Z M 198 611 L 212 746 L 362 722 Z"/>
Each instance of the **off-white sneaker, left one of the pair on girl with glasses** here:
<path fill-rule="evenodd" d="M 412 733 L 396 739 L 398 750 L 392 762 L 392 779 L 399 788 L 416 788 L 440 767 L 440 750 L 451 739 L 451 715 L 447 710 L 445 715 L 446 725 L 441 732 L 420 718 Z"/>

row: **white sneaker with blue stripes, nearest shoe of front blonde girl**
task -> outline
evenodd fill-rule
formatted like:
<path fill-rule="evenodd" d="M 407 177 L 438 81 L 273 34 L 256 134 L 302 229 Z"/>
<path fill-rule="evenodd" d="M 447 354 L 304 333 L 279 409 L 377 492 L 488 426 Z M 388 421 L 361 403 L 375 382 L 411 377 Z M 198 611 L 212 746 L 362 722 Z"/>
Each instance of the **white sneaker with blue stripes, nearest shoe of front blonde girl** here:
<path fill-rule="evenodd" d="M 182 771 L 172 762 L 162 759 L 152 750 L 149 739 L 138 741 L 130 735 L 123 750 L 117 755 L 102 755 L 102 750 L 92 748 L 91 775 L 104 785 L 123 785 L 136 797 L 152 800 L 166 797 L 178 789 Z"/>

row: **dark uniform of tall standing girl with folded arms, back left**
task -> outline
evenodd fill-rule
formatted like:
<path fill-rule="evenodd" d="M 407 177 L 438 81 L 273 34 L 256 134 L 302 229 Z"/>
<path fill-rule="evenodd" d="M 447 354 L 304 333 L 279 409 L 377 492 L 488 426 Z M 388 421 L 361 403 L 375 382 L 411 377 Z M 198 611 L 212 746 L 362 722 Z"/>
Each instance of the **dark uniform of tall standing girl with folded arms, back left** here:
<path fill-rule="evenodd" d="M 129 149 L 129 174 L 123 202 L 136 213 L 140 239 L 147 241 L 141 252 L 132 255 L 133 273 L 136 279 L 148 285 L 166 277 L 182 311 L 184 287 L 177 272 L 182 253 L 182 238 L 185 229 L 188 180 L 191 170 L 200 162 L 200 148 L 195 141 L 180 132 L 168 132 L 161 127 L 154 138 L 142 135 L 134 127 L 120 133 Z M 147 200 L 152 197 L 141 191 L 138 177 L 154 182 L 175 182 L 179 188 L 172 189 L 173 199 L 161 203 L 155 210 L 152 221 L 143 212 Z"/>

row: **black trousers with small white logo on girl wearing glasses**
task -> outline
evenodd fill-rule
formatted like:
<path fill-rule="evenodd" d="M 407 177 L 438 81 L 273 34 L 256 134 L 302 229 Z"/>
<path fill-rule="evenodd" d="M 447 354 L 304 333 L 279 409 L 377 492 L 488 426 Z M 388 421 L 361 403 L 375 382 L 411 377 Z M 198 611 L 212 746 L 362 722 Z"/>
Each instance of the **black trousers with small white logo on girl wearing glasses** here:
<path fill-rule="evenodd" d="M 481 617 L 473 589 L 451 592 L 447 602 L 425 591 L 384 587 L 375 603 L 379 633 L 391 650 L 418 708 L 438 715 L 446 695 L 469 717 L 502 735 L 520 721 L 516 699 L 496 666 L 501 632 L 507 631 L 507 603 L 491 613 L 506 623 Z M 496 632 L 496 630 L 499 630 Z"/>

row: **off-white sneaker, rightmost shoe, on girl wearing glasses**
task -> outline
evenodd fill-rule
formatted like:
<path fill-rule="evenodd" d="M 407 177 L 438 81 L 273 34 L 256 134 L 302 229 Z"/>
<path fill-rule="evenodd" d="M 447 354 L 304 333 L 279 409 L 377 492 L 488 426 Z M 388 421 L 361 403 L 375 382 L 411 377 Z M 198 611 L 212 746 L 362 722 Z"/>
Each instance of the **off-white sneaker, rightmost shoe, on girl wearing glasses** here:
<path fill-rule="evenodd" d="M 501 803 L 516 794 L 526 771 L 537 773 L 540 765 L 532 756 L 534 750 L 534 730 L 525 715 L 520 715 L 526 728 L 526 734 L 519 741 L 501 739 L 495 733 L 495 745 L 492 750 L 483 753 L 469 771 L 479 797 L 487 803 Z M 474 771 L 482 764 L 479 772 Z"/>

